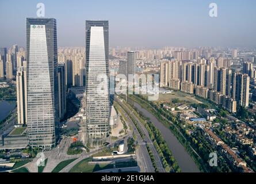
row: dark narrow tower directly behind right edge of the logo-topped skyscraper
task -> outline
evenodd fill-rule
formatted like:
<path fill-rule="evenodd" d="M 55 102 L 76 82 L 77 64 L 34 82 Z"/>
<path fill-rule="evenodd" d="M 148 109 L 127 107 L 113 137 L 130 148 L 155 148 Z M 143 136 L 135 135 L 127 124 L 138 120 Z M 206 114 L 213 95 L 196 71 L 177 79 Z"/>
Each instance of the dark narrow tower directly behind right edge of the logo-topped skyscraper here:
<path fill-rule="evenodd" d="M 59 91 L 59 117 L 63 120 L 66 114 L 66 66 L 65 63 L 58 64 L 58 91 Z"/>

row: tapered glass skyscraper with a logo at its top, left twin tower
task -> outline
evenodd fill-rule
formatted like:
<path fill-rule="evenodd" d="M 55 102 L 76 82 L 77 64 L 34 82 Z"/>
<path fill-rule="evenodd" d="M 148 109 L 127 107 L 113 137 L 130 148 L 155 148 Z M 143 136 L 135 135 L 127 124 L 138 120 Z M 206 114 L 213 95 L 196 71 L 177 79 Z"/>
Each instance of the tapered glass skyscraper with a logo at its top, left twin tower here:
<path fill-rule="evenodd" d="M 58 47 L 54 18 L 26 18 L 27 126 L 31 147 L 50 150 L 58 137 Z"/>

